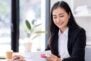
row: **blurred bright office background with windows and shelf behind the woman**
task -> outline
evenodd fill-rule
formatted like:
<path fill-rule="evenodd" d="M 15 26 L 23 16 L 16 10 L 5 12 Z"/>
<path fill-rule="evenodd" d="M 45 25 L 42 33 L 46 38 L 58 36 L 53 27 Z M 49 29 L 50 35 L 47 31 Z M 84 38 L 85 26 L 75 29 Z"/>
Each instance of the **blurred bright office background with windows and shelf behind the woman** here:
<path fill-rule="evenodd" d="M 32 51 L 44 51 L 49 37 L 50 8 L 60 0 L 0 0 L 0 56 L 7 50 L 24 52 L 25 43 L 32 42 Z M 65 0 L 71 7 L 77 23 L 85 28 L 86 47 L 91 46 L 91 1 Z M 31 41 L 25 27 L 25 20 L 35 20 L 45 31 Z M 89 52 L 88 50 L 87 52 Z M 89 55 L 88 55 L 89 56 Z"/>

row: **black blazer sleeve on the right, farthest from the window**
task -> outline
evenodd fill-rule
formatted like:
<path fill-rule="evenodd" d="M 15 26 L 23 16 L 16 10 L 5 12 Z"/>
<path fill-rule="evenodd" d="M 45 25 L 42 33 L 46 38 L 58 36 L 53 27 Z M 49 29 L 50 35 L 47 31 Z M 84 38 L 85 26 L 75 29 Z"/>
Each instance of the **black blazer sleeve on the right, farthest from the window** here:
<path fill-rule="evenodd" d="M 85 45 L 86 33 L 84 29 L 81 29 L 75 38 L 71 56 L 62 61 L 85 61 Z"/>

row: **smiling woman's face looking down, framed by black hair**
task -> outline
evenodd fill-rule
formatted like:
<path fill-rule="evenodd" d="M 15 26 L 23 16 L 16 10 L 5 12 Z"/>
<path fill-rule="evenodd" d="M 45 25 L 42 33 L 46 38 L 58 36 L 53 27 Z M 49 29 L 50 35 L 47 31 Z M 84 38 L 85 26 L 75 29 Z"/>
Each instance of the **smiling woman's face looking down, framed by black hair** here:
<path fill-rule="evenodd" d="M 63 8 L 56 8 L 52 12 L 54 24 L 60 28 L 64 29 L 67 27 L 69 14 Z"/>

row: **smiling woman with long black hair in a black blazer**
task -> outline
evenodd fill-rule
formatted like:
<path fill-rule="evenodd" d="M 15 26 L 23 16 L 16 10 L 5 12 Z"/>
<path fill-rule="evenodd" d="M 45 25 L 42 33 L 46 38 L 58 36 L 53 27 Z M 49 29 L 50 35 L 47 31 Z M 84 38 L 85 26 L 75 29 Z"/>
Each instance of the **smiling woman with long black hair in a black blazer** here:
<path fill-rule="evenodd" d="M 85 61 L 85 30 L 77 25 L 66 2 L 53 5 L 50 23 L 50 43 L 46 50 L 51 50 L 52 55 L 47 61 Z"/>

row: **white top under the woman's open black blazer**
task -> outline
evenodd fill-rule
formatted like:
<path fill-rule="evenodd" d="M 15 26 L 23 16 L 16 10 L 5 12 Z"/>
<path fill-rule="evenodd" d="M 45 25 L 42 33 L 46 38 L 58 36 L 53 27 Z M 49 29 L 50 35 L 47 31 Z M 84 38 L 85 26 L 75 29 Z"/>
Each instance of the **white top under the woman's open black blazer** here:
<path fill-rule="evenodd" d="M 70 57 L 70 55 L 68 53 L 68 48 L 67 48 L 68 28 L 63 33 L 61 33 L 60 30 L 59 30 L 58 36 L 59 36 L 58 48 L 59 48 L 59 55 L 60 55 L 61 59 Z"/>

